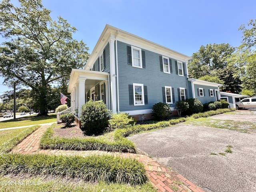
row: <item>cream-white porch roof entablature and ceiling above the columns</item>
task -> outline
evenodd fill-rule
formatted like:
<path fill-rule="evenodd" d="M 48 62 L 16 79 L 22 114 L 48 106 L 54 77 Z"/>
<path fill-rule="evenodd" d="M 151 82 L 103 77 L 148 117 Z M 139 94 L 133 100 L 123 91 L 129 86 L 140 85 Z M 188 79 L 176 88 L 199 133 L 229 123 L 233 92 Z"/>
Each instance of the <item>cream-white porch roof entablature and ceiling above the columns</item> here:
<path fill-rule="evenodd" d="M 68 92 L 71 93 L 73 91 L 73 88 L 76 86 L 79 78 L 86 79 L 85 86 L 88 88 L 90 86 L 94 86 L 100 81 L 108 80 L 108 76 L 109 73 L 106 72 L 72 69 L 69 79 Z"/>

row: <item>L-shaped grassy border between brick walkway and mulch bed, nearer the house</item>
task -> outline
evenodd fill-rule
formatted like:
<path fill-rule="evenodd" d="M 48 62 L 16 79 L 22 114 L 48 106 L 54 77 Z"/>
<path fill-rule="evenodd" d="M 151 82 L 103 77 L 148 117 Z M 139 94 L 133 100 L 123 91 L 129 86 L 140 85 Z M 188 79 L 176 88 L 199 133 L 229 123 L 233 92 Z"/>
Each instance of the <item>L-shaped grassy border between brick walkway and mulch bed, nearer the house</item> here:
<path fill-rule="evenodd" d="M 62 150 L 102 150 L 110 152 L 135 153 L 135 145 L 126 138 L 118 141 L 110 141 L 103 138 L 59 138 L 52 137 L 54 125 L 50 126 L 40 140 L 41 149 Z"/>

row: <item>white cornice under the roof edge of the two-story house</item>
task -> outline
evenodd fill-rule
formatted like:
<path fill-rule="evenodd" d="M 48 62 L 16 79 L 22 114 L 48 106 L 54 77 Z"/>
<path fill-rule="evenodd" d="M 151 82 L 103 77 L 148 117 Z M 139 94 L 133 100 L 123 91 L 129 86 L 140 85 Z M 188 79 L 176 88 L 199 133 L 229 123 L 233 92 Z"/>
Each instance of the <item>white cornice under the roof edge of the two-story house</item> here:
<path fill-rule="evenodd" d="M 161 46 L 159 44 L 106 24 L 102 34 L 100 35 L 100 38 L 98 39 L 94 49 L 92 50 L 88 62 L 84 67 L 85 70 L 90 70 L 110 38 L 113 38 L 114 40 L 126 41 L 131 44 L 134 42 L 136 44 L 140 44 L 140 48 L 144 48 L 153 52 L 158 52 L 165 56 L 170 56 L 174 59 L 181 60 L 182 62 L 186 62 L 187 60 L 191 59 L 191 57 L 186 56 L 182 53 L 176 52 L 174 50 L 171 50 L 169 48 L 166 48 L 164 46 Z"/>

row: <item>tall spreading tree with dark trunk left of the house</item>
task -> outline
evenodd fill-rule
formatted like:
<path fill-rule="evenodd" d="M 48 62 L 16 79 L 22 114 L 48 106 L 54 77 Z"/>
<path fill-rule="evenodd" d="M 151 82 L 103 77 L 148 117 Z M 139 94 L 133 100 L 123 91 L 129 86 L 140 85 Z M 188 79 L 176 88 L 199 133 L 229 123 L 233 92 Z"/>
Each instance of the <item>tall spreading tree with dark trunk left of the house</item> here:
<path fill-rule="evenodd" d="M 0 33 L 9 40 L 0 47 L 0 74 L 6 84 L 19 80 L 32 88 L 39 115 L 47 115 L 52 83 L 68 78 L 72 68 L 82 68 L 88 48 L 72 38 L 76 28 L 66 20 L 52 20 L 41 0 L 19 2 L 19 7 L 10 0 L 0 3 Z"/>

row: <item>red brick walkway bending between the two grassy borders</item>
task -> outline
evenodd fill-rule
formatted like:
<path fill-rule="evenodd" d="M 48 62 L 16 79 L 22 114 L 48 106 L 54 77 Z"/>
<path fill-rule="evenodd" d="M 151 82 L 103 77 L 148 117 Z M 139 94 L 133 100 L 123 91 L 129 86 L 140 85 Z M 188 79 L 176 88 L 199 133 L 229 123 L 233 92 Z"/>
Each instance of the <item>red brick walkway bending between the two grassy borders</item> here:
<path fill-rule="evenodd" d="M 136 158 L 145 165 L 148 178 L 158 192 L 204 192 L 200 187 L 196 186 L 182 175 L 174 170 L 158 164 L 152 158 L 142 154 L 105 152 L 105 151 L 72 151 L 72 150 L 41 150 L 39 149 L 39 141 L 48 126 L 41 126 L 38 130 L 26 137 L 18 144 L 11 153 L 23 154 L 65 154 L 88 156 L 92 154 L 112 154 L 114 156 L 122 156 L 124 158 Z"/>

